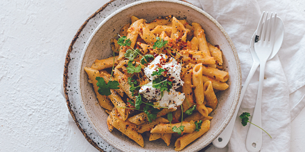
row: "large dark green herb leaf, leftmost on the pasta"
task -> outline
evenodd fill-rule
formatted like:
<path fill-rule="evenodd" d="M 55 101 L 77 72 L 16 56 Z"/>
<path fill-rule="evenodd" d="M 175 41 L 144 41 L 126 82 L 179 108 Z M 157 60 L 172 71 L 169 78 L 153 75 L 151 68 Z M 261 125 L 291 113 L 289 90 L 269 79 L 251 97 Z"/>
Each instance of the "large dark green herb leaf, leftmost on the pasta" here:
<path fill-rule="evenodd" d="M 101 95 L 111 95 L 110 88 L 119 89 L 119 82 L 117 81 L 109 81 L 108 84 L 106 84 L 103 77 L 96 77 L 96 80 L 98 80 L 96 83 L 96 86 L 98 86 L 98 93 Z"/>

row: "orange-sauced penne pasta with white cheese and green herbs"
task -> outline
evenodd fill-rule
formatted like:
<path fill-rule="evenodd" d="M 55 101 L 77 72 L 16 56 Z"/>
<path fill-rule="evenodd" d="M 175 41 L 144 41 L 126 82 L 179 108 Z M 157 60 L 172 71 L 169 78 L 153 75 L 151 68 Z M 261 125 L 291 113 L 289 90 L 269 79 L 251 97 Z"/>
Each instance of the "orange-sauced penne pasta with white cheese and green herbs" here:
<path fill-rule="evenodd" d="M 109 131 L 117 129 L 144 146 L 162 139 L 181 151 L 210 128 L 216 92 L 229 87 L 219 46 L 198 23 L 171 15 L 131 23 L 112 38 L 113 57 L 85 67 Z M 106 122 L 105 122 L 106 123 Z"/>

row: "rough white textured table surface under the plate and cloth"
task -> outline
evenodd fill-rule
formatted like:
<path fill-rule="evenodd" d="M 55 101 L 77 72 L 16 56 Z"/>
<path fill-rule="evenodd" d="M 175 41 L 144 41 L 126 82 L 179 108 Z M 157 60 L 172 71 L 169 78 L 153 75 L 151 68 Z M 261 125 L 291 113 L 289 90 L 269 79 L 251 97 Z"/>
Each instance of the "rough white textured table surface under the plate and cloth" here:
<path fill-rule="evenodd" d="M 0 1 L 1 152 L 97 151 L 58 90 L 73 36 L 107 1 Z M 305 1 L 291 3 L 305 17 Z M 290 151 L 305 149 L 304 117 L 291 122 Z"/>

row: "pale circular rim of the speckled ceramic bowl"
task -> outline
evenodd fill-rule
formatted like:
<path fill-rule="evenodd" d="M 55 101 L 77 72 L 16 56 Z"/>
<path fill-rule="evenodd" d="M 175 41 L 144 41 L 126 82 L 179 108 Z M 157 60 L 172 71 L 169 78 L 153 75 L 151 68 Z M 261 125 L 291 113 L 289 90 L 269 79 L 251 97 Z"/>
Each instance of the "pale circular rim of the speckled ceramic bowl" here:
<path fill-rule="evenodd" d="M 218 137 L 218 135 L 220 135 L 220 133 L 225 129 L 225 127 L 227 126 L 227 124 L 229 124 L 229 121 L 232 119 L 234 112 L 236 111 L 236 106 L 238 104 L 238 100 L 240 97 L 240 93 L 241 93 L 241 64 L 240 64 L 240 60 L 238 57 L 238 53 L 236 51 L 236 48 L 232 42 L 232 39 L 229 37 L 229 35 L 227 34 L 227 32 L 225 32 L 225 29 L 220 25 L 220 23 L 218 23 L 218 21 L 216 21 L 216 19 L 214 19 L 213 17 L 211 17 L 211 15 L 209 15 L 207 12 L 204 12 L 204 10 L 193 6 L 193 4 L 188 3 L 188 2 L 184 2 L 184 1 L 175 1 L 175 0 L 143 0 L 143 1 L 136 1 L 133 3 L 130 3 L 126 6 L 123 6 L 122 8 L 120 8 L 119 10 L 116 10 L 114 12 L 112 12 L 109 16 L 107 16 L 101 23 L 98 24 L 98 26 L 96 27 L 96 29 L 94 30 L 94 32 L 92 32 L 92 35 L 90 35 L 89 39 L 87 40 L 85 47 L 82 49 L 82 55 L 80 57 L 80 61 L 78 64 L 78 73 L 77 73 L 77 88 L 80 91 L 80 93 L 78 94 L 78 96 L 80 97 L 80 104 L 82 105 L 82 109 L 85 112 L 85 115 L 88 118 L 88 122 L 89 124 L 91 124 L 93 126 L 93 129 L 96 131 L 96 133 L 98 133 L 98 135 L 103 138 L 103 140 L 105 140 L 105 142 L 107 142 L 108 144 L 111 144 L 112 146 L 114 146 L 116 149 L 119 149 L 121 151 L 126 151 L 126 149 L 123 149 L 123 147 L 119 146 L 119 144 L 116 144 L 116 142 L 113 142 L 112 140 L 108 139 L 107 137 L 104 137 L 104 135 L 102 135 L 98 129 L 97 126 L 94 124 L 94 122 L 92 122 L 91 117 L 89 117 L 89 114 L 87 112 L 87 110 L 85 109 L 85 104 L 84 104 L 84 99 L 82 99 L 82 91 L 81 91 L 81 84 L 80 84 L 80 77 L 81 77 L 81 70 L 82 70 L 82 64 L 83 64 L 83 59 L 85 57 L 85 53 L 87 52 L 87 48 L 89 46 L 89 44 L 91 43 L 92 39 L 94 38 L 94 36 L 96 35 L 96 32 L 98 32 L 98 30 L 100 30 L 100 28 L 110 19 L 112 19 L 112 17 L 114 17 L 115 15 L 117 15 L 119 12 L 122 12 L 123 10 L 126 10 L 128 8 L 132 8 L 134 6 L 138 6 L 141 5 L 142 3 L 154 3 L 154 2 L 168 2 L 168 3 L 177 3 L 180 4 L 182 6 L 186 6 L 189 7 L 197 12 L 200 12 L 200 14 L 204 15 L 205 17 L 207 17 L 210 21 L 212 21 L 214 23 L 215 26 L 218 27 L 218 29 L 223 33 L 223 35 L 225 36 L 225 38 L 227 39 L 229 46 L 232 48 L 233 54 L 234 54 L 234 58 L 236 60 L 236 68 L 238 70 L 238 75 L 237 75 L 237 79 L 238 79 L 238 85 L 237 85 L 237 89 L 238 91 L 236 91 L 236 97 L 234 98 L 234 102 L 233 102 L 233 107 L 234 108 L 230 108 L 229 111 L 229 119 L 225 120 L 225 122 L 223 122 L 223 126 L 220 127 L 220 129 L 218 131 L 216 131 L 216 133 L 214 134 L 213 137 L 211 137 L 210 139 L 211 142 L 213 142 L 213 140 L 216 139 L 216 137 Z M 106 3 L 107 4 L 107 3 Z M 202 147 L 194 147 L 193 149 L 191 149 L 191 151 L 198 151 L 200 149 L 203 149 L 205 146 L 209 145 L 210 142 L 205 142 Z"/>

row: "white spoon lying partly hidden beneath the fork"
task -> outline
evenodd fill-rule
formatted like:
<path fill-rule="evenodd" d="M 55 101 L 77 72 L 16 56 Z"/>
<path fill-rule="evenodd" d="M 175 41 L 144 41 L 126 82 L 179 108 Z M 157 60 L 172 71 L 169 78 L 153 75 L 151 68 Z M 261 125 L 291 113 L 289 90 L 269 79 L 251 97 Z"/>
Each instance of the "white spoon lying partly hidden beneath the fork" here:
<path fill-rule="evenodd" d="M 280 31 L 282 31 L 282 32 L 280 32 Z M 252 79 L 256 69 L 259 67 L 259 57 L 257 57 L 257 55 L 255 53 L 255 50 L 254 50 L 255 36 L 256 36 L 256 31 L 252 35 L 252 39 L 250 41 L 250 52 L 251 52 L 251 55 L 252 55 L 253 64 L 252 64 L 250 73 L 247 76 L 247 79 L 245 80 L 245 84 L 243 84 L 243 88 L 241 89 L 241 96 L 238 100 L 236 111 L 235 111 L 235 113 L 232 117 L 232 120 L 229 122 L 229 124 L 227 124 L 227 127 L 213 141 L 214 146 L 216 146 L 217 148 L 220 148 L 220 149 L 223 149 L 227 145 L 227 143 L 229 142 L 229 139 L 232 135 L 232 131 L 233 131 L 233 128 L 234 128 L 234 124 L 235 124 L 236 116 L 237 116 L 237 113 L 238 113 L 238 109 L 241 106 L 241 102 L 243 101 L 243 96 L 245 95 L 245 91 L 247 90 L 247 86 L 250 84 L 251 79 Z M 275 38 L 275 46 L 273 48 L 272 54 L 270 55 L 269 59 L 272 59 L 273 57 L 275 57 L 275 55 L 277 55 L 277 52 L 279 52 L 279 48 L 281 48 L 281 43 L 282 43 L 283 38 L 284 38 L 284 23 L 281 20 L 281 18 L 279 18 L 279 17 L 277 17 L 277 28 L 276 28 L 275 37 L 276 37 Z M 254 77 L 254 78 L 258 79 L 258 76 Z"/>

